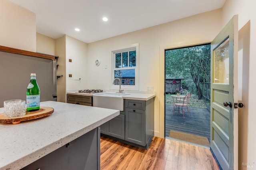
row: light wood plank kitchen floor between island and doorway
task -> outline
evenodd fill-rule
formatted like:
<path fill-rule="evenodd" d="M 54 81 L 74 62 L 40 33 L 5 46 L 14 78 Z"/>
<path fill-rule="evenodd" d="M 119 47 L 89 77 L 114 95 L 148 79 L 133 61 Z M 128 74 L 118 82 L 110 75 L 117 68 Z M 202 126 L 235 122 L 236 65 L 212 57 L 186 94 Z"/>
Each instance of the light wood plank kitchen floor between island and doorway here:
<path fill-rule="evenodd" d="M 154 137 L 148 150 L 101 137 L 101 170 L 219 170 L 209 148 Z"/>

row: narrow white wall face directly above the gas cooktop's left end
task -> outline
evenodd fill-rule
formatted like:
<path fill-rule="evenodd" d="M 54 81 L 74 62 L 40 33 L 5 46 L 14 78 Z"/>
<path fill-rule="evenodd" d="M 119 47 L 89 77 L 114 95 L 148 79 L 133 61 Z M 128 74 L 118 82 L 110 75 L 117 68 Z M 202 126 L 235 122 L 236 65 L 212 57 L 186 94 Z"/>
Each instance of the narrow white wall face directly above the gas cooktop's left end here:
<path fill-rule="evenodd" d="M 66 90 L 86 89 L 86 54 L 87 43 L 66 36 Z"/>

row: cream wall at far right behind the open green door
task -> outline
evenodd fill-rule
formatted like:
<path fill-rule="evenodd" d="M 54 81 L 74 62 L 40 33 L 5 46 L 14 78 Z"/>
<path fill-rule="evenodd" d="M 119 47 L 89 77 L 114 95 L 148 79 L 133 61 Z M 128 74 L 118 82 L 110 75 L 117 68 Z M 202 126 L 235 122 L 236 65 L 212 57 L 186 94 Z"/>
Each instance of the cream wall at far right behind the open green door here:
<path fill-rule="evenodd" d="M 252 164 L 256 169 L 256 135 L 254 96 L 256 79 L 256 2 L 254 0 L 226 0 L 222 12 L 222 26 L 238 14 L 238 101 L 244 108 L 238 109 L 238 167 L 247 169 L 242 164 Z"/>

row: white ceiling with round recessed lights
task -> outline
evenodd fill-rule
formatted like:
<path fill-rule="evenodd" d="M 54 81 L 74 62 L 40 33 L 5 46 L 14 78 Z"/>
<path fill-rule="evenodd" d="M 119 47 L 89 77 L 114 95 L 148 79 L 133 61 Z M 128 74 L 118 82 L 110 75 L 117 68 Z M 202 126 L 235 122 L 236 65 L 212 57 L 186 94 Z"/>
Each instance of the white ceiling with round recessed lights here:
<path fill-rule="evenodd" d="M 226 0 L 10 1 L 36 14 L 36 32 L 90 43 L 222 8 Z M 102 21 L 104 16 L 108 22 Z"/>

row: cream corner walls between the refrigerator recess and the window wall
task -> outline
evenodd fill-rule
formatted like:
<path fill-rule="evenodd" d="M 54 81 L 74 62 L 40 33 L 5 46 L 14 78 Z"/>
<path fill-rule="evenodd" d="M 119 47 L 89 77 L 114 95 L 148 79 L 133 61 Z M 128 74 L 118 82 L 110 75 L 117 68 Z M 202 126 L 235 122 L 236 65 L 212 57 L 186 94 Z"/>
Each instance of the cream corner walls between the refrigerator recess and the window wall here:
<path fill-rule="evenodd" d="M 86 55 L 87 43 L 81 42 L 70 36 L 63 36 L 56 40 L 36 34 L 37 52 L 57 55 L 57 75 L 63 75 L 57 79 L 58 101 L 66 102 L 66 91 L 86 89 Z M 72 62 L 69 62 L 72 59 Z M 72 74 L 70 78 L 68 75 Z"/>

